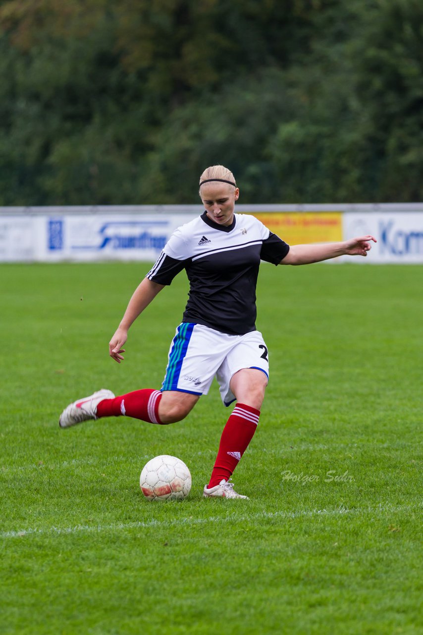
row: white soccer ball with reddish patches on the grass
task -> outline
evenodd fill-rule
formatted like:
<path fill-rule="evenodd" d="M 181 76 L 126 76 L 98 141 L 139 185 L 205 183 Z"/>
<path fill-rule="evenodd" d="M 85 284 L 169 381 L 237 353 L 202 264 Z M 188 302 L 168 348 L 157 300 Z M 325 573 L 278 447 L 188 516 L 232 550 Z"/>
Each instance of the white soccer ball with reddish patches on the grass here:
<path fill-rule="evenodd" d="M 191 474 L 180 458 L 162 454 L 144 465 L 140 488 L 147 500 L 182 500 L 190 493 Z"/>

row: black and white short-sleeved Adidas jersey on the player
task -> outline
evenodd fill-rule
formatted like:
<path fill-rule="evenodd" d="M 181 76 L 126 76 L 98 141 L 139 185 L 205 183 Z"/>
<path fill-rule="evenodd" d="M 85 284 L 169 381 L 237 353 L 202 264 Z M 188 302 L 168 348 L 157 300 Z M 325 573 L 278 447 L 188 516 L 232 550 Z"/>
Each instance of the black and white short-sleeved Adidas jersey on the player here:
<path fill-rule="evenodd" d="M 204 212 L 178 227 L 148 279 L 171 284 L 185 269 L 190 292 L 183 322 L 230 335 L 256 330 L 256 284 L 260 260 L 277 265 L 289 245 L 254 216 L 235 214 L 228 227 Z"/>

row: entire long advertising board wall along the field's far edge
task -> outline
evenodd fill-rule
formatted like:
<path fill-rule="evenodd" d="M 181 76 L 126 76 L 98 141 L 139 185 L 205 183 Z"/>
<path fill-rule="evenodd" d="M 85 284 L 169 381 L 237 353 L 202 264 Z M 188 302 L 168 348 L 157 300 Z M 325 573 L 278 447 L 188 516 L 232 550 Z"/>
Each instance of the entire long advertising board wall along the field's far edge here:
<path fill-rule="evenodd" d="M 367 258 L 331 262 L 423 263 L 423 204 L 238 205 L 289 244 L 372 234 Z M 188 206 L 0 208 L 0 262 L 157 259 L 172 232 L 202 212 Z"/>

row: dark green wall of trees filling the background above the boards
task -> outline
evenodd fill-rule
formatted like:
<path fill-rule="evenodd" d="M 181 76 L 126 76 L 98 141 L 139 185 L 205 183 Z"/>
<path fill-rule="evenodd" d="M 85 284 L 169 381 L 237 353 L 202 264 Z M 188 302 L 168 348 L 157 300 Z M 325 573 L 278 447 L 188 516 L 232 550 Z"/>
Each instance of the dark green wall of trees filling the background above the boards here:
<path fill-rule="evenodd" d="M 0 3 L 0 204 L 422 198 L 419 0 Z"/>

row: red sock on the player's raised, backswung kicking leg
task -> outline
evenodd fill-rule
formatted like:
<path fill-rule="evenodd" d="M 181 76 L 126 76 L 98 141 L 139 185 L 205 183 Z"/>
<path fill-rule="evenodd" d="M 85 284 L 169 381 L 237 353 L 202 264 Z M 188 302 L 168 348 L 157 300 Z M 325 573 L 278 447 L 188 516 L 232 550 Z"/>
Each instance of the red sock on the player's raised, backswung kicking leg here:
<path fill-rule="evenodd" d="M 150 424 L 161 424 L 159 419 L 160 391 L 145 388 L 141 391 L 128 392 L 114 399 L 103 399 L 97 406 L 97 417 L 134 417 L 148 421 Z"/>

